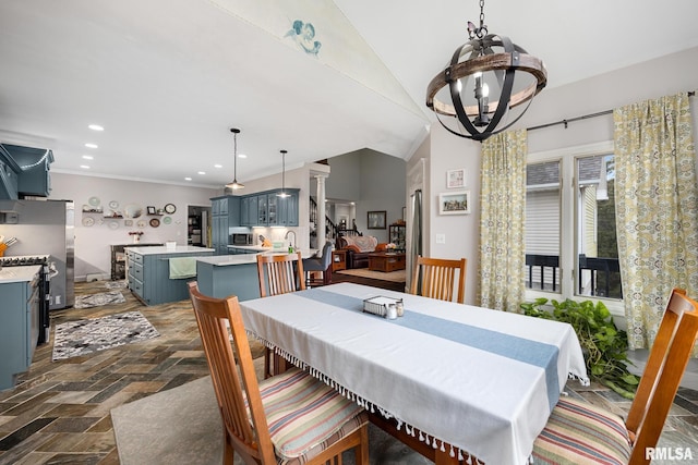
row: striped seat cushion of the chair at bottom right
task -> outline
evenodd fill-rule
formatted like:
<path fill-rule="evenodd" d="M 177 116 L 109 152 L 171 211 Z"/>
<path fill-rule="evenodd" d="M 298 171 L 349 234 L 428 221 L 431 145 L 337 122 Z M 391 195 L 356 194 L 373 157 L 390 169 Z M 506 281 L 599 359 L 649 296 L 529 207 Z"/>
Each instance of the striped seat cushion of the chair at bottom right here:
<path fill-rule="evenodd" d="M 630 441 L 623 418 L 588 402 L 557 402 L 533 444 L 534 464 L 627 464 Z"/>

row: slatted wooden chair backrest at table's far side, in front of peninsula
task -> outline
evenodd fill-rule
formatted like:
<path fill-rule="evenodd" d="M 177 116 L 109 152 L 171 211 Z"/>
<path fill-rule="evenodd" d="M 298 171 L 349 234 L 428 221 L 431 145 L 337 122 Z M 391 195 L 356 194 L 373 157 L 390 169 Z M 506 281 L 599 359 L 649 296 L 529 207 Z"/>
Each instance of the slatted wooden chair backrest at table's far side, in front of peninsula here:
<path fill-rule="evenodd" d="M 301 253 L 279 255 L 257 255 L 260 295 L 286 294 L 305 289 Z"/>

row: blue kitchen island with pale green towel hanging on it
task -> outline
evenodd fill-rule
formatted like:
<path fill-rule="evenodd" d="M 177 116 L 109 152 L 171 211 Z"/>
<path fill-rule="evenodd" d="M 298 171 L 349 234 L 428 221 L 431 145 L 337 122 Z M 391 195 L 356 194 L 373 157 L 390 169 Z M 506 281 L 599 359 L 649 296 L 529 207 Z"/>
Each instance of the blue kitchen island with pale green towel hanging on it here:
<path fill-rule="evenodd" d="M 196 258 L 214 255 L 213 248 L 178 245 L 127 247 L 129 289 L 145 305 L 189 298 L 186 281 L 196 278 Z"/>

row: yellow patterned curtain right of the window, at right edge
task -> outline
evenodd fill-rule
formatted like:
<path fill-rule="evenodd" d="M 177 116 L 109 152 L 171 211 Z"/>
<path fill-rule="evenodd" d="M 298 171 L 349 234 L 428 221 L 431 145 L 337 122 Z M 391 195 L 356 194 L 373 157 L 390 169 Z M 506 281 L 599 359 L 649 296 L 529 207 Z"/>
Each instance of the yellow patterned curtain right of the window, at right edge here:
<path fill-rule="evenodd" d="M 651 347 L 669 295 L 698 293 L 698 189 L 688 96 L 613 112 L 618 255 L 630 348 Z"/>

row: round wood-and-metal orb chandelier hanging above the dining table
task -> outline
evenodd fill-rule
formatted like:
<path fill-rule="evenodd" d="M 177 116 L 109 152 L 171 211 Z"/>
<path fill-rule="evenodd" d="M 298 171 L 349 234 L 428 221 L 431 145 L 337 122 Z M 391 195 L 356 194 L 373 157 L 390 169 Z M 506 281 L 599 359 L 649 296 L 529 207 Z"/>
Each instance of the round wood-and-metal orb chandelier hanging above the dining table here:
<path fill-rule="evenodd" d="M 484 0 L 480 0 L 480 26 L 469 21 L 468 35 L 470 40 L 429 83 L 426 107 L 448 132 L 482 142 L 524 115 L 545 87 L 547 72 L 540 59 L 508 37 L 488 34 Z"/>

